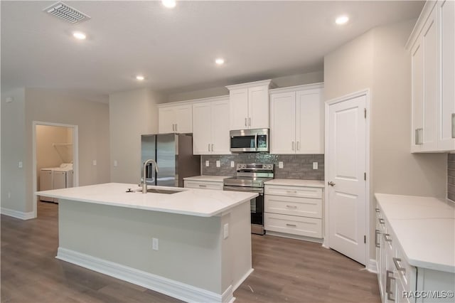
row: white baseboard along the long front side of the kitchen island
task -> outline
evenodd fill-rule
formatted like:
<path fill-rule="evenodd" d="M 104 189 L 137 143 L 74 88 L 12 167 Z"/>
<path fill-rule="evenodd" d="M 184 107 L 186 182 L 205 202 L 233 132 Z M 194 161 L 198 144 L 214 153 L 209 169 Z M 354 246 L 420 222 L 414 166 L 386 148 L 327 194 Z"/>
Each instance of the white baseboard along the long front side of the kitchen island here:
<path fill-rule="evenodd" d="M 74 250 L 58 248 L 57 259 L 79 265 L 95 272 L 115 277 L 135 285 L 140 285 L 156 292 L 161 292 L 168 296 L 181 299 L 186 302 L 233 302 L 232 285 L 223 292 L 217 294 L 205 289 L 187 285 L 176 280 L 171 280 L 149 272 L 137 270 L 132 267 L 124 266 L 115 262 L 85 255 Z"/>

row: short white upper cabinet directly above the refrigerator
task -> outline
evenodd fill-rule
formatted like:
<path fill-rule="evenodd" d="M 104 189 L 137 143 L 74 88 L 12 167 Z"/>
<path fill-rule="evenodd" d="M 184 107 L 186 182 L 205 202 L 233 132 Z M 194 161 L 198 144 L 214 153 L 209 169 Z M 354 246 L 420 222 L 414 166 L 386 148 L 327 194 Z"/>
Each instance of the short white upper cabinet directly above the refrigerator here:
<path fill-rule="evenodd" d="M 162 105 L 158 108 L 158 132 L 166 134 L 193 132 L 193 116 L 191 104 Z"/>

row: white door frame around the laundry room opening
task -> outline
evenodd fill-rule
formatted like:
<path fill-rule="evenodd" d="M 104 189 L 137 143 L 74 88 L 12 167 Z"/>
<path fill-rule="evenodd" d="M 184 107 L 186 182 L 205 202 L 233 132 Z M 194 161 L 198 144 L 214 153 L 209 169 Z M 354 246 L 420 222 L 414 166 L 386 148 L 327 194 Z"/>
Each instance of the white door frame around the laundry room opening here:
<path fill-rule="evenodd" d="M 62 123 L 54 123 L 54 122 L 42 122 L 42 121 L 33 121 L 32 122 L 32 134 L 33 134 L 33 139 L 32 139 L 32 146 L 33 146 L 33 162 L 32 162 L 32 167 L 33 167 L 33 217 L 32 218 L 37 218 L 38 213 L 37 213 L 37 208 L 38 208 L 38 195 L 36 194 L 37 191 L 37 186 L 36 184 L 38 183 L 38 176 L 36 174 L 36 166 L 38 165 L 36 162 L 36 126 L 37 125 L 44 125 L 44 126 L 53 126 L 53 127 L 67 127 L 70 129 L 73 129 L 73 171 L 74 171 L 74 186 L 79 186 L 79 129 L 77 125 L 73 124 L 62 124 Z"/>

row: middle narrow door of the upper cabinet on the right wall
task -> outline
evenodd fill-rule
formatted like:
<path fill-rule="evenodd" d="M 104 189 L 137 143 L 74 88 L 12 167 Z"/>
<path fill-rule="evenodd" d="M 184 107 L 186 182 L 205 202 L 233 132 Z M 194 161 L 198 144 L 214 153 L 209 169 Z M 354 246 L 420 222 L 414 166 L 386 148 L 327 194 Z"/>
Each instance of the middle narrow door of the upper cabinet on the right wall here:
<path fill-rule="evenodd" d="M 424 44 L 424 144 L 422 151 L 437 150 L 439 58 L 436 16 L 436 9 L 434 9 L 422 30 L 422 43 Z"/>

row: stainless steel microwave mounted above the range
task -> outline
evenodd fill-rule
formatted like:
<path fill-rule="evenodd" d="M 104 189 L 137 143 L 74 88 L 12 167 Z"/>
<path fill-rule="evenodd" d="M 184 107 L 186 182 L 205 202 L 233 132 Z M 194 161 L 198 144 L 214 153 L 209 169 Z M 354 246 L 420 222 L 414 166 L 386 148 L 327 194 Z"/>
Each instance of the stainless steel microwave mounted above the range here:
<path fill-rule="evenodd" d="M 269 151 L 269 129 L 242 129 L 230 131 L 230 151 Z"/>

